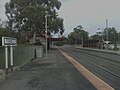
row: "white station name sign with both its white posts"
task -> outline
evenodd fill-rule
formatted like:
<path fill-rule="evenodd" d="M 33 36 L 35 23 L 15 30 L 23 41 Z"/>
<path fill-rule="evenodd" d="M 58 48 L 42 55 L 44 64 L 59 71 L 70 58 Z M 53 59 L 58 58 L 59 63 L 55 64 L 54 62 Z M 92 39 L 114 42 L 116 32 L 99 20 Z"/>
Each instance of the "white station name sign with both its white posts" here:
<path fill-rule="evenodd" d="M 5 46 L 5 69 L 8 74 L 8 46 L 10 46 L 10 67 L 13 72 L 13 46 L 17 45 L 17 39 L 11 37 L 2 37 L 2 46 Z"/>

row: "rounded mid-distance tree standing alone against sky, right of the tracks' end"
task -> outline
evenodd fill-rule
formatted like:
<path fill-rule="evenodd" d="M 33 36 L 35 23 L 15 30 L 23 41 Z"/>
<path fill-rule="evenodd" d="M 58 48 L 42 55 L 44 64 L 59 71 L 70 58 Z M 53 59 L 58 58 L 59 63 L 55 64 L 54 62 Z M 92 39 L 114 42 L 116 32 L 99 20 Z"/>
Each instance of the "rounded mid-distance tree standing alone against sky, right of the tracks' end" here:
<path fill-rule="evenodd" d="M 73 29 L 73 32 L 71 32 L 68 35 L 69 43 L 70 44 L 82 44 L 83 41 L 87 40 L 89 38 L 88 32 L 83 29 L 81 25 L 77 26 Z"/>

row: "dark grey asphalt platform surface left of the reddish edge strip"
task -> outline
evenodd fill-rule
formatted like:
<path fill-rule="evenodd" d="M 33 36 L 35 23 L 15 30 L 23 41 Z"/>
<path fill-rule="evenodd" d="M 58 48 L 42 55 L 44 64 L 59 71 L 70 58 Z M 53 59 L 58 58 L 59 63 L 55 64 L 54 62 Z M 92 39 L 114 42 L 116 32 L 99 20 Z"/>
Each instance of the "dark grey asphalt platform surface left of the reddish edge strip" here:
<path fill-rule="evenodd" d="M 37 58 L 0 83 L 0 90 L 96 90 L 57 50 Z"/>

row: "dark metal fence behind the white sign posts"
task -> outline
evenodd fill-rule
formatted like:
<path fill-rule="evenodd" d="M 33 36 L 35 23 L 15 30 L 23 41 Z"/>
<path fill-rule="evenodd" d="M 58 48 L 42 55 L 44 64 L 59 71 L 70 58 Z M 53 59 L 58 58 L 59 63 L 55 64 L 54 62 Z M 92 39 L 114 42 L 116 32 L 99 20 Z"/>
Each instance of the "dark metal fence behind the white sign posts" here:
<path fill-rule="evenodd" d="M 41 46 L 22 45 L 13 47 L 14 67 L 20 66 L 35 57 L 35 49 Z M 9 66 L 10 66 L 10 48 L 8 48 Z M 5 69 L 5 47 L 0 47 L 0 69 Z"/>

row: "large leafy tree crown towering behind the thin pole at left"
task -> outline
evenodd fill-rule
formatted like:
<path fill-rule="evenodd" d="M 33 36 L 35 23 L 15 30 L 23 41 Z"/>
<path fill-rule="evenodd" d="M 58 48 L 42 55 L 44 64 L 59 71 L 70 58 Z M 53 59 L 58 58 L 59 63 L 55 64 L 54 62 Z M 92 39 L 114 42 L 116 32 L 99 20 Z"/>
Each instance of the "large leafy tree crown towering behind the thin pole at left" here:
<path fill-rule="evenodd" d="M 10 0 L 5 5 L 11 29 L 44 32 L 45 15 L 48 14 L 48 31 L 62 34 L 64 32 L 63 19 L 57 15 L 60 7 L 61 2 L 58 0 Z"/>

